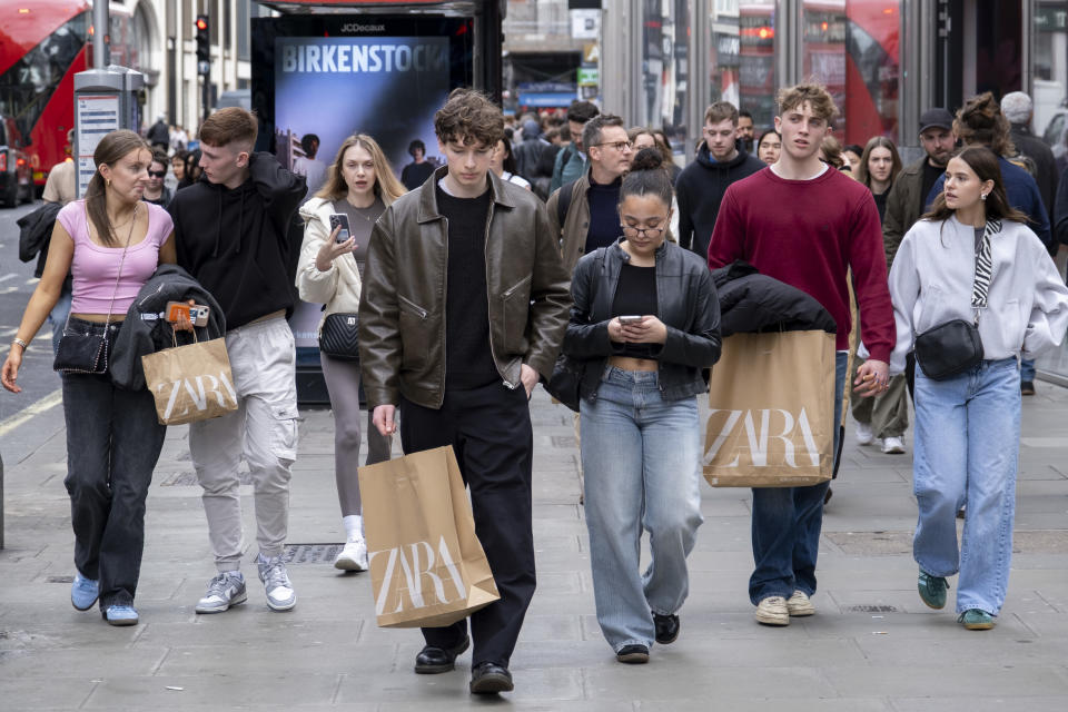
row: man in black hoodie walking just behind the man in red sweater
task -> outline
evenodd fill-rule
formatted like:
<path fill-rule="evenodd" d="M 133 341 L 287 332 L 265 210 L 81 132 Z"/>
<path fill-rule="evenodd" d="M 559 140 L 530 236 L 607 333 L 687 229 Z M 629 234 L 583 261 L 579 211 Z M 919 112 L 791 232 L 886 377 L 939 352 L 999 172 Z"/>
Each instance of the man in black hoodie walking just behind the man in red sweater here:
<path fill-rule="evenodd" d="M 679 245 L 709 258 L 709 240 L 728 186 L 752 176 L 764 167 L 735 145 L 738 109 L 729 101 L 716 101 L 704 111 L 704 141 L 698 158 L 675 181 L 679 200 Z"/>

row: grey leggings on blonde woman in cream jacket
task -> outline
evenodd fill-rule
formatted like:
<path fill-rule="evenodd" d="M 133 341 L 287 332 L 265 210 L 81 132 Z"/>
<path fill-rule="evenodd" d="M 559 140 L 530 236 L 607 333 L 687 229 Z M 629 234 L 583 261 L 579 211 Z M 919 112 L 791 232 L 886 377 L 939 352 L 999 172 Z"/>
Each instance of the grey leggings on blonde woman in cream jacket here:
<path fill-rule="evenodd" d="M 334 476 L 337 478 L 337 498 L 342 516 L 360 514 L 359 478 L 359 362 L 330 358 L 319 354 L 323 378 L 330 394 L 334 409 Z M 370 423 L 367 413 L 367 463 L 374 465 L 389 459 L 390 438 L 383 437 Z"/>

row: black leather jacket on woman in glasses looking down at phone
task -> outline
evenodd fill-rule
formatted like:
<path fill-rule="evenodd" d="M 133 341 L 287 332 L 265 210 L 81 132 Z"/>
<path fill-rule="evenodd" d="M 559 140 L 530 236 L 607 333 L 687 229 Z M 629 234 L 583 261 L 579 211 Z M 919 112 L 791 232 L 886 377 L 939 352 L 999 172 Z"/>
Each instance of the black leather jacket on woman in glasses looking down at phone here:
<path fill-rule="evenodd" d="M 584 255 L 571 280 L 571 323 L 564 353 L 585 362 L 583 399 L 597 396 L 601 375 L 615 354 L 609 338 L 612 303 L 620 270 L 630 261 L 620 241 Z M 668 327 L 659 354 L 659 384 L 665 400 L 678 400 L 709 389 L 702 370 L 720 359 L 720 303 L 704 260 L 673 243 L 656 250 L 656 316 Z"/>

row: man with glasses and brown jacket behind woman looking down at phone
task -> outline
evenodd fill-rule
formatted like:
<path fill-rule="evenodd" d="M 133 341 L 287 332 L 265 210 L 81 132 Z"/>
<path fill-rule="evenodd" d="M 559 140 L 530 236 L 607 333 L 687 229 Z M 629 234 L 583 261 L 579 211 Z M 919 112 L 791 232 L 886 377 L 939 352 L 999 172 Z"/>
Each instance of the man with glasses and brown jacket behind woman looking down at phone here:
<path fill-rule="evenodd" d="M 560 187 L 548 198 L 553 234 L 561 237 L 564 267 L 570 275 L 575 263 L 620 237 L 620 184 L 631 167 L 634 151 L 623 119 L 602 113 L 582 129 L 582 145 L 590 165 L 586 174 Z"/>

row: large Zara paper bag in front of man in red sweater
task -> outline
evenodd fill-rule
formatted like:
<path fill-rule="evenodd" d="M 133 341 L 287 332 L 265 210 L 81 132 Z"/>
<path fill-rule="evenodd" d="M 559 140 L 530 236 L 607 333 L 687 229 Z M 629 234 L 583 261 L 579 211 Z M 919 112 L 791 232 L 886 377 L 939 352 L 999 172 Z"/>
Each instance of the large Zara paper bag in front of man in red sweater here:
<path fill-rule="evenodd" d="M 831 478 L 834 335 L 734 334 L 709 382 L 704 477 L 713 487 L 793 487 Z"/>

